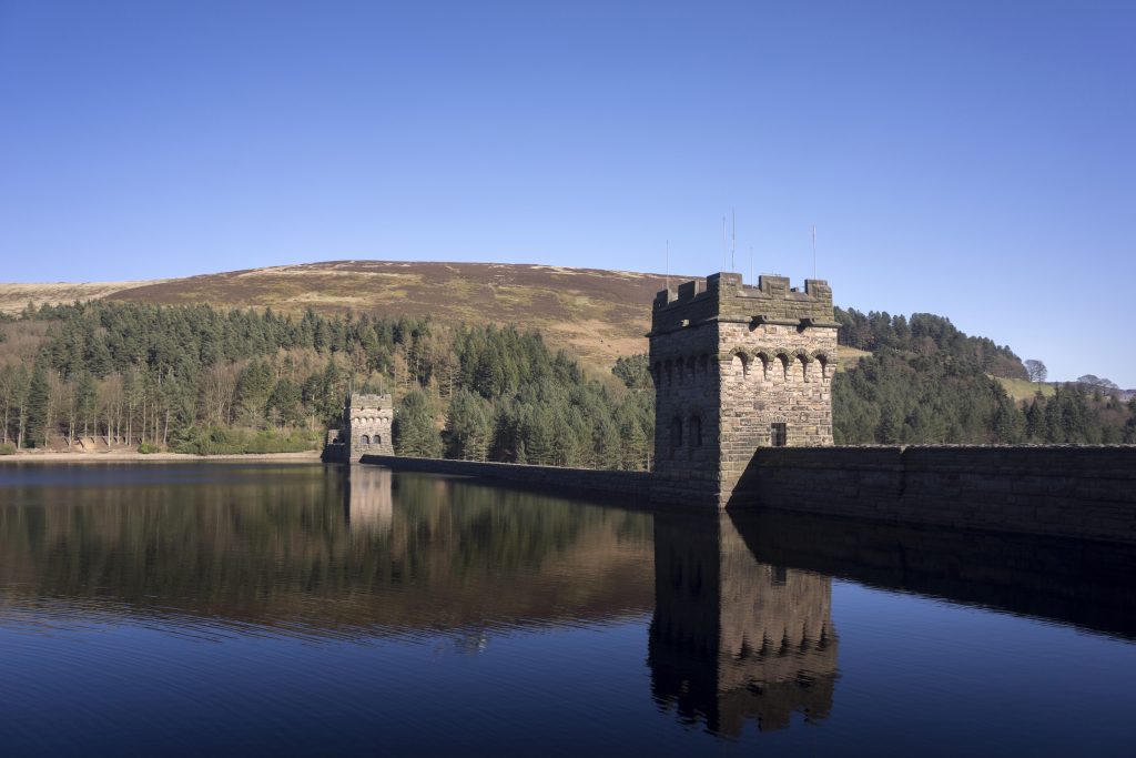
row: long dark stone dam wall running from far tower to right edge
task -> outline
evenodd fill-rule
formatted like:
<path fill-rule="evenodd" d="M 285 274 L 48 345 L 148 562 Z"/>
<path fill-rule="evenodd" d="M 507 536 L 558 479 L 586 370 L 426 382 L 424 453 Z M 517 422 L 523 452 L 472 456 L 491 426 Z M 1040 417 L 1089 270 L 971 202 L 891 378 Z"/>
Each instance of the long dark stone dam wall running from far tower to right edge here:
<path fill-rule="evenodd" d="M 717 509 L 648 472 L 376 455 L 361 463 Z M 1136 544 L 1136 447 L 762 448 L 726 508 Z"/>

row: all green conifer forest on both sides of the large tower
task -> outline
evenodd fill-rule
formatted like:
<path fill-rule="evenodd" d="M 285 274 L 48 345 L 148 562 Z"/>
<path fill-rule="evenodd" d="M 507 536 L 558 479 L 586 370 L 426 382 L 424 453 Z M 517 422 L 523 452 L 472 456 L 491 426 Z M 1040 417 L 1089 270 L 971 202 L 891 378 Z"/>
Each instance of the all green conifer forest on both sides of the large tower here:
<path fill-rule="evenodd" d="M 1078 384 L 1014 401 L 996 377 L 1024 380 L 1021 360 L 943 317 L 837 318 L 867 352 L 833 380 L 837 444 L 1136 442 L 1136 401 Z M 590 376 L 512 327 L 107 300 L 0 323 L 0 450 L 307 450 L 351 385 L 394 395 L 401 455 L 651 466 L 645 356 Z"/>

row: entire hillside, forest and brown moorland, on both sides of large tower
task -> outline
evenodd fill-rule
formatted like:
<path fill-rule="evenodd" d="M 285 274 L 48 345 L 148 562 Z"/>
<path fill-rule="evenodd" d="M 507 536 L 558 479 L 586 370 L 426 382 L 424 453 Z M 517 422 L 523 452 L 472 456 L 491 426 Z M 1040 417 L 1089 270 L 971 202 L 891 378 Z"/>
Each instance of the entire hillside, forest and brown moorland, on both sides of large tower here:
<path fill-rule="evenodd" d="M 0 323 L 0 449 L 302 450 L 353 384 L 393 391 L 406 455 L 644 469 L 643 334 L 663 285 L 625 272 L 381 261 L 0 285 L 20 311 Z M 24 308 L 74 299 L 86 302 Z M 835 316 L 838 443 L 1136 441 L 1136 403 L 1078 384 L 1034 398 L 1009 347 L 943 316 Z"/>

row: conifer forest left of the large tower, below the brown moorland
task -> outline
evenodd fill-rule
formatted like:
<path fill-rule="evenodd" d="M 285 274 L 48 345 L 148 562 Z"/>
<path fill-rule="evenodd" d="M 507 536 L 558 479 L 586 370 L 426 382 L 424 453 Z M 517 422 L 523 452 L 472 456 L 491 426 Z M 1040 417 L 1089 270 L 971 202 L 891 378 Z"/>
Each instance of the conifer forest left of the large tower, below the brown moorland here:
<path fill-rule="evenodd" d="M 0 324 L 0 444 L 304 449 L 352 383 L 395 395 L 409 455 L 650 465 L 643 388 L 586 377 L 536 333 L 114 301 Z"/>

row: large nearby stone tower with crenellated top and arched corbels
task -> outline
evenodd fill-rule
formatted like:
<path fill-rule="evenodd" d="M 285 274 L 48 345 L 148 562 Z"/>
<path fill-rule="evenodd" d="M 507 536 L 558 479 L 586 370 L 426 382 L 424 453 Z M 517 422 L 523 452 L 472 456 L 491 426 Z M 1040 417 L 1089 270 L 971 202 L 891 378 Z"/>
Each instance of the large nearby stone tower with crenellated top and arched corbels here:
<path fill-rule="evenodd" d="M 729 503 L 758 448 L 830 445 L 833 292 L 805 280 L 713 274 L 655 295 L 651 315 L 655 488 Z"/>

